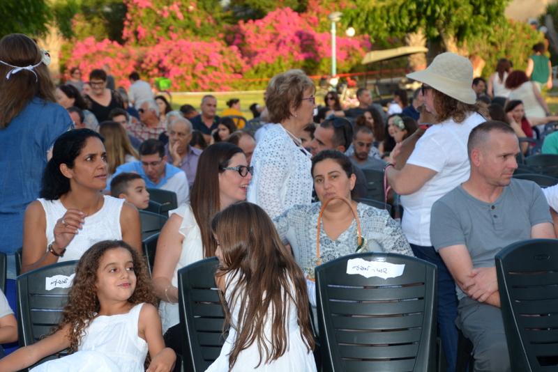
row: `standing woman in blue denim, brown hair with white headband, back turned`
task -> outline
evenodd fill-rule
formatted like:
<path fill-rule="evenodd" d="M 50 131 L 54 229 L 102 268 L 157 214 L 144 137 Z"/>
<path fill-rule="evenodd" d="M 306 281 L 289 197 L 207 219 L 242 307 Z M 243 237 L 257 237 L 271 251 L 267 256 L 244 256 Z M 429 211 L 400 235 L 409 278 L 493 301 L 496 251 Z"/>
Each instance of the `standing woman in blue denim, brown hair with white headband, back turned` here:
<path fill-rule="evenodd" d="M 7 254 L 22 246 L 25 208 L 39 196 L 54 141 L 73 125 L 56 104 L 49 63 L 48 52 L 21 33 L 0 41 L 0 251 Z"/>

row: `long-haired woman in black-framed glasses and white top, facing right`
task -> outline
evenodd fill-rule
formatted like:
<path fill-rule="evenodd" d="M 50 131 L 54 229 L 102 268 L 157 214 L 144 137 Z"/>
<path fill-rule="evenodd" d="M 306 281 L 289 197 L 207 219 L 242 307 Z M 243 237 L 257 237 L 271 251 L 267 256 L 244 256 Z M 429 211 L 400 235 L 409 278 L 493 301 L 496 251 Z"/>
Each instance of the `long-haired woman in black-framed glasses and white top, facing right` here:
<path fill-rule="evenodd" d="M 169 212 L 160 233 L 153 265 L 153 287 L 161 300 L 165 342 L 181 354 L 177 272 L 190 263 L 215 256 L 213 215 L 246 200 L 252 167 L 242 149 L 227 142 L 209 146 L 199 157 L 190 202 Z"/>

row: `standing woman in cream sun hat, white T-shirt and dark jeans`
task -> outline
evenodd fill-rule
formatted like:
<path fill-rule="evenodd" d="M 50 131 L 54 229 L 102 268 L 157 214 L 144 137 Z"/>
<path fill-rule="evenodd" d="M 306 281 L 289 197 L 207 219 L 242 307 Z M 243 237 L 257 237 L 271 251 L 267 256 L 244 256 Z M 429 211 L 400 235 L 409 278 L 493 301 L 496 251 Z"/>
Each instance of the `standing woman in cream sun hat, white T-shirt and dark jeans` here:
<path fill-rule="evenodd" d="M 424 108 L 435 117 L 418 139 L 407 164 L 396 170 L 386 164 L 389 185 L 401 195 L 405 208 L 402 228 L 415 256 L 438 268 L 438 323 L 448 371 L 455 370 L 458 330 L 455 282 L 430 241 L 430 210 L 440 197 L 469 178 L 467 140 L 469 133 L 485 121 L 472 89 L 473 65 L 453 53 L 439 54 L 423 71 L 407 77 L 423 83 Z M 393 162 L 400 145 L 391 153 Z"/>

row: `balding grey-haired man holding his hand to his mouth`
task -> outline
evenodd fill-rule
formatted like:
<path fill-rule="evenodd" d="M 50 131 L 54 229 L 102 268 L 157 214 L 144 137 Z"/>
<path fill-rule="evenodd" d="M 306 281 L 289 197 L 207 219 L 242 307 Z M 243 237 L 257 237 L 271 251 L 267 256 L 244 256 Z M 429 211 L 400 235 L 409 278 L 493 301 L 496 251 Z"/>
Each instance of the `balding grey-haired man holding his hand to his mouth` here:
<path fill-rule="evenodd" d="M 186 118 L 176 118 L 169 124 L 169 143 L 165 145 L 167 162 L 186 173 L 188 185 L 192 187 L 197 171 L 197 162 L 202 150 L 190 146 L 192 123 Z"/>

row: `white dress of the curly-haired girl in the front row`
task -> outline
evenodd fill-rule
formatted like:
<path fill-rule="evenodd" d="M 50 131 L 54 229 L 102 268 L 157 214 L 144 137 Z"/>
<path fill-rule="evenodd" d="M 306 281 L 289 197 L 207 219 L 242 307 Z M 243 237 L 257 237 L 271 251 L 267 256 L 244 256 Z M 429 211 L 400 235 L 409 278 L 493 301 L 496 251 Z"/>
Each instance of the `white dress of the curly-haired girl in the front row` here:
<path fill-rule="evenodd" d="M 144 372 L 147 343 L 137 335 L 142 306 L 137 304 L 126 314 L 94 318 L 77 352 L 31 372 Z"/>

